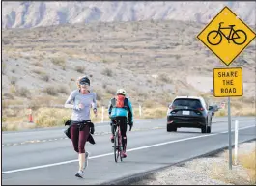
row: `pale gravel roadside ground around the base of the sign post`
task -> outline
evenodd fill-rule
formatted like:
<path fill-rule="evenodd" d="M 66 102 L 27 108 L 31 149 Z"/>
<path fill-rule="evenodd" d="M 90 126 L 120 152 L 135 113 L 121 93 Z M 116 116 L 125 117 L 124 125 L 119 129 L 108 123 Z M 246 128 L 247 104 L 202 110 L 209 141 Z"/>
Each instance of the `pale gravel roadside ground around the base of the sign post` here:
<path fill-rule="evenodd" d="M 256 141 L 239 145 L 238 153 L 255 150 Z M 234 153 L 233 153 L 234 154 Z M 252 184 L 241 165 L 228 167 L 228 150 L 158 171 L 131 185 L 242 185 Z M 255 184 L 254 184 L 255 185 Z"/>

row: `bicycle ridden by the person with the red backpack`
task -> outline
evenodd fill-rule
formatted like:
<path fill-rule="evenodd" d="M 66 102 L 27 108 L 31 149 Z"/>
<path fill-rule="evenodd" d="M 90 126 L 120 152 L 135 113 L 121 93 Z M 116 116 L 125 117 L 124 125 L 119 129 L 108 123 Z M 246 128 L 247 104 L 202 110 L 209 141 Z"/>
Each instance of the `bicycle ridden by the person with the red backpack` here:
<path fill-rule="evenodd" d="M 115 162 L 118 162 L 118 158 L 120 157 L 120 161 L 123 161 L 122 158 L 122 136 L 121 136 L 121 130 L 120 130 L 120 119 L 116 119 L 113 123 L 113 127 L 117 126 L 116 131 L 114 132 L 114 156 L 115 156 Z M 129 126 L 129 131 L 131 130 L 131 127 Z"/>

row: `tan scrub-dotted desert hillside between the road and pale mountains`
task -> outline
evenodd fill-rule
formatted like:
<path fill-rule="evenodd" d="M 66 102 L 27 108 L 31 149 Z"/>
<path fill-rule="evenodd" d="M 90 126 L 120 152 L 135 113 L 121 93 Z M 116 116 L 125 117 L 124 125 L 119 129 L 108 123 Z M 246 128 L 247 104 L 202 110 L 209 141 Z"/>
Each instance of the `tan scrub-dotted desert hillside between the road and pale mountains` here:
<path fill-rule="evenodd" d="M 213 67 L 223 64 L 196 39 L 203 27 L 148 20 L 4 30 L 3 102 L 63 104 L 83 74 L 90 75 L 104 105 L 119 87 L 145 104 L 166 105 L 175 94 L 209 93 Z M 254 64 L 252 42 L 232 64 L 243 68 L 245 97 L 255 95 Z"/>

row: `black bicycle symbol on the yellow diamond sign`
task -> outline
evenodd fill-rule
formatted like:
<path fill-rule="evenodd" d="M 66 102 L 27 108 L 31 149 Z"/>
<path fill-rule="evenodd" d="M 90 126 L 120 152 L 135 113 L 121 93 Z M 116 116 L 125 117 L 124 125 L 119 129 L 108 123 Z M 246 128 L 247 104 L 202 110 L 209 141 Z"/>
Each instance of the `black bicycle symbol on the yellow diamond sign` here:
<path fill-rule="evenodd" d="M 207 35 L 207 41 L 210 44 L 218 45 L 222 41 L 222 36 L 228 40 L 228 43 L 230 43 L 230 40 L 233 40 L 233 42 L 237 45 L 242 45 L 247 40 L 247 35 L 243 30 L 235 30 L 235 25 L 229 25 L 229 27 L 221 27 L 221 24 L 223 23 L 224 22 L 220 22 L 218 30 L 213 30 Z M 222 29 L 230 29 L 228 37 L 226 37 L 226 35 L 221 31 Z M 240 40 L 241 38 L 244 38 L 244 40 Z"/>

